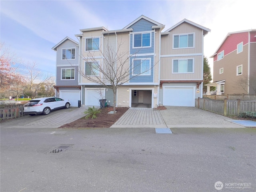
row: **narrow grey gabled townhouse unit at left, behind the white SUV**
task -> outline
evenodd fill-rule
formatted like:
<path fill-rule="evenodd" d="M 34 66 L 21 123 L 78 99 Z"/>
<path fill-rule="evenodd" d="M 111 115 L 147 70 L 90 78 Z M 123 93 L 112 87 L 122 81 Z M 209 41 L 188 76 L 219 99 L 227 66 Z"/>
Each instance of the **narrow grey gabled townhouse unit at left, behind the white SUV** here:
<path fill-rule="evenodd" d="M 78 85 L 79 43 L 69 37 L 56 44 L 56 97 L 70 100 L 71 106 L 78 106 L 81 100 L 81 86 Z"/>

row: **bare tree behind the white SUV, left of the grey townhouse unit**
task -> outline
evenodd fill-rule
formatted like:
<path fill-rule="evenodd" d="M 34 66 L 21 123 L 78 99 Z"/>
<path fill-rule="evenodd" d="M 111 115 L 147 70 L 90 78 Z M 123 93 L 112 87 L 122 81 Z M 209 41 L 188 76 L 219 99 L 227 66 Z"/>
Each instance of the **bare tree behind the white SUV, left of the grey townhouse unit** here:
<path fill-rule="evenodd" d="M 52 78 L 51 74 L 46 74 L 38 70 L 37 65 L 36 62 L 24 64 L 25 80 L 27 82 L 25 91 L 26 95 L 32 99 L 37 96 L 42 86 Z"/>

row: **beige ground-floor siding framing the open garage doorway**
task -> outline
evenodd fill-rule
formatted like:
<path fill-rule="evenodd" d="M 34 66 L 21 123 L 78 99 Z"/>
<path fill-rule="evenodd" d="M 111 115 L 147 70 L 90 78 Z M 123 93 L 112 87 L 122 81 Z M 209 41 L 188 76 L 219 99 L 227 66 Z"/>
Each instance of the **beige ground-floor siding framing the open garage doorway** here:
<path fill-rule="evenodd" d="M 118 107 L 129 107 L 130 104 L 130 91 L 127 89 L 132 90 L 143 90 L 143 89 L 154 89 L 154 93 L 158 94 L 158 86 L 120 86 L 117 91 L 117 105 Z M 157 98 L 154 98 L 153 103 L 154 108 L 157 108 Z"/>

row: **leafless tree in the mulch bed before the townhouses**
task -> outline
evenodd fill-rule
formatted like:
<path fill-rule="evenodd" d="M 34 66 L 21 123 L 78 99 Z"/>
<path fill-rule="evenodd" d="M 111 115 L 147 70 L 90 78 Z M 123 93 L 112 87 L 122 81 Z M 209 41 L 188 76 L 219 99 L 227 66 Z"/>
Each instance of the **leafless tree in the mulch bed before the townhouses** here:
<path fill-rule="evenodd" d="M 112 46 L 109 42 L 108 36 L 106 36 L 106 44 L 104 51 L 98 48 L 100 57 L 103 60 L 102 64 L 98 63 L 98 57 L 95 56 L 95 52 L 88 51 L 87 56 L 81 55 L 81 59 L 85 61 L 85 70 L 79 69 L 81 76 L 96 83 L 99 86 L 109 88 L 114 94 L 114 114 L 116 113 L 116 95 L 117 89 L 124 83 L 128 82 L 132 78 L 146 73 L 154 68 L 154 65 L 141 65 L 141 63 L 134 62 L 132 58 L 136 58 L 136 54 L 129 54 L 129 52 L 122 51 L 122 41 L 119 44 Z M 132 60 L 132 62 L 131 62 Z M 142 62 L 145 62 L 142 60 Z M 131 62 L 131 63 L 130 63 Z"/>

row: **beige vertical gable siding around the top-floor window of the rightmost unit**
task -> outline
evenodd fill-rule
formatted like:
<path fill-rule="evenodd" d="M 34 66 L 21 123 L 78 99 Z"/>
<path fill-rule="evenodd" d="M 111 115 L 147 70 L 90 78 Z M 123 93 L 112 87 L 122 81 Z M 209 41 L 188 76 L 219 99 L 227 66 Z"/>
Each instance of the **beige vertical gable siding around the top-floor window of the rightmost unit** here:
<path fill-rule="evenodd" d="M 194 33 L 195 47 L 186 48 L 186 49 L 172 49 L 173 35 L 187 34 L 187 33 Z M 176 28 L 174 28 L 173 30 L 171 30 L 169 35 L 161 36 L 161 55 L 202 53 L 203 52 L 202 41 L 203 41 L 202 29 L 184 22 L 179 26 L 177 26 Z"/>

